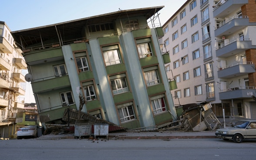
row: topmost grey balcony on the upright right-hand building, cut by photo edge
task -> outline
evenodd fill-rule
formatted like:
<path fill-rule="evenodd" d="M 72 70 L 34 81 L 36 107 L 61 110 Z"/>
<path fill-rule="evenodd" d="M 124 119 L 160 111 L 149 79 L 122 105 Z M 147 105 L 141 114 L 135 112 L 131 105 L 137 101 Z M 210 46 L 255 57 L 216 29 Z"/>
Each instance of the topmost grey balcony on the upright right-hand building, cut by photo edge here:
<path fill-rule="evenodd" d="M 213 17 L 225 18 L 236 9 L 241 9 L 248 0 L 220 0 L 213 7 Z"/>

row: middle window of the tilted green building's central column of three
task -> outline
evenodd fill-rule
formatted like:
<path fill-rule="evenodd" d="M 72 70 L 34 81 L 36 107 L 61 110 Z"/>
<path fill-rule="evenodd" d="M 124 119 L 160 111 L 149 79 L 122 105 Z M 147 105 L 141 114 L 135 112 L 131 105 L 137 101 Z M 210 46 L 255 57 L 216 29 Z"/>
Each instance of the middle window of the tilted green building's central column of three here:
<path fill-rule="evenodd" d="M 125 77 L 111 80 L 111 89 L 113 94 L 123 93 L 128 91 Z"/>

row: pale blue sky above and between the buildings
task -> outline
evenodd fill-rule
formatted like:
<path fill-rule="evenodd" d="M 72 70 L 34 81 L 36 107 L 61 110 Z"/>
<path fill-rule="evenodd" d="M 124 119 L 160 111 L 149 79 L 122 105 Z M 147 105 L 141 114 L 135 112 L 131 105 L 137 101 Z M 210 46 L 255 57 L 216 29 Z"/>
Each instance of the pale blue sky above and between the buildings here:
<path fill-rule="evenodd" d="M 0 21 L 11 31 L 61 23 L 100 14 L 145 7 L 165 6 L 160 10 L 163 25 L 187 0 L 1 0 Z M 34 103 L 27 83 L 25 103 Z"/>

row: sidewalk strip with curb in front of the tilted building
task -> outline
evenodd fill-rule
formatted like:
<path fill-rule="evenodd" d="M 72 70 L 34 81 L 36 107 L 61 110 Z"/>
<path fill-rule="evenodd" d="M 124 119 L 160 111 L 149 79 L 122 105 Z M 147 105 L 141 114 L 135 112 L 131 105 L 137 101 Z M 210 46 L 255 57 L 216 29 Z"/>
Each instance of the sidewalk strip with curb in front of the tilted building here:
<path fill-rule="evenodd" d="M 108 133 L 109 139 L 201 139 L 216 138 L 215 131 L 182 132 L 182 131 L 160 131 L 160 132 L 114 132 Z M 38 140 L 74 139 L 74 133 L 48 134 L 37 138 Z"/>

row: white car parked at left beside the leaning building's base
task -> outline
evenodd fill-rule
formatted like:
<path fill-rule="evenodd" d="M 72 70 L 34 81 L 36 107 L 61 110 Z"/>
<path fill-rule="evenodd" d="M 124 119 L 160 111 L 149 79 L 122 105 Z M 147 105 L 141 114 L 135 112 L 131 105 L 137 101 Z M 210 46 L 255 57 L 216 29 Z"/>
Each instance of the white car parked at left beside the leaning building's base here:
<path fill-rule="evenodd" d="M 17 139 L 36 138 L 37 126 L 24 126 L 17 131 Z"/>

